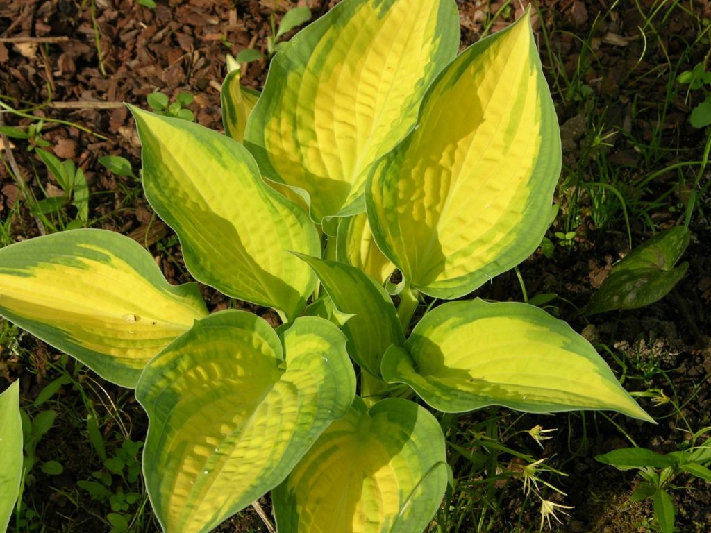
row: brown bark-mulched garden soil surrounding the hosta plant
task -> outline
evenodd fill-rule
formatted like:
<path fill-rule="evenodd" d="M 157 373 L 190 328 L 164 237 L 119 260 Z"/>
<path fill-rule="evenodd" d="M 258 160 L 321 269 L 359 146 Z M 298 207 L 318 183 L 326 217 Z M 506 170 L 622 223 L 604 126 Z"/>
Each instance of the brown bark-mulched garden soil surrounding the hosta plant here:
<path fill-rule="evenodd" d="M 42 135 L 56 156 L 73 159 L 85 172 L 92 193 L 92 227 L 137 239 L 154 255 L 166 278 L 177 284 L 190 278 L 173 232 L 156 218 L 134 178 L 107 171 L 98 158 L 124 156 L 134 169 L 139 168 L 139 141 L 122 102 L 146 107 L 146 95 L 156 90 L 171 97 L 178 92 L 191 93 L 195 100 L 190 108 L 196 121 L 221 131 L 219 90 L 225 75 L 225 54 L 243 48 L 265 51 L 271 31 L 269 17 L 275 14 L 278 20 L 297 3 L 157 0 L 157 4 L 155 9 L 147 9 L 135 0 L 0 0 L 0 99 L 16 109 L 29 109 L 36 117 L 74 124 L 44 122 Z M 309 0 L 298 4 L 309 6 L 314 16 L 321 16 L 335 2 Z M 491 14 L 499 11 L 490 28 L 498 31 L 523 13 L 528 1 L 472 0 L 457 4 L 463 45 L 469 45 L 481 37 Z M 700 31 L 700 18 L 711 17 L 709 4 L 684 0 L 680 2 L 683 9 L 651 19 L 654 31 L 648 31 L 645 16 L 651 16 L 664 2 L 616 1 L 613 12 L 603 18 L 611 4 L 607 0 L 539 0 L 540 14 L 534 16 L 562 124 L 563 184 L 570 183 L 574 169 L 595 168 L 599 158 L 605 159 L 606 168 L 619 173 L 616 183 L 638 183 L 641 171 L 636 169 L 648 164 L 643 161 L 646 152 L 640 149 L 642 145 L 658 144 L 661 155 L 655 162 L 656 170 L 702 156 L 704 132 L 688 122 L 690 109 L 700 95 L 687 98 L 685 90 L 670 95 L 668 80 L 675 72 L 689 70 L 704 59 L 708 41 L 705 46 L 697 45 L 692 53 L 687 48 Z M 658 11 L 665 12 L 666 8 Z M 678 70 L 671 70 L 669 65 Z M 259 88 L 267 66 L 264 59 L 250 63 L 242 82 Z M 577 81 L 568 86 L 560 76 L 553 75 L 556 70 Z M 4 113 L 2 122 L 22 126 L 32 121 Z M 609 133 L 614 134 L 607 136 Z M 636 141 L 631 141 L 633 138 Z M 36 154 L 26 149 L 26 141 L 2 139 L 0 145 L 6 163 L 0 166 L 0 219 L 5 231 L 15 240 L 41 235 L 46 227 L 33 213 L 26 207 L 14 209 L 14 204 L 23 200 L 23 188 L 13 174 L 38 198 L 43 197 L 43 189 L 49 195 L 56 194 L 57 185 Z M 598 149 L 593 153 L 590 146 Z M 663 172 L 641 190 L 630 185 L 629 190 L 621 191 L 628 200 L 631 198 L 630 202 L 634 200 L 634 205 L 652 206 L 640 208 L 646 218 L 630 218 L 634 244 L 651 235 L 645 221 L 664 229 L 683 220 L 696 169 Z M 652 170 L 645 171 L 649 174 Z M 583 176 L 587 181 L 602 179 L 587 172 Z M 704 179 L 709 179 L 708 172 Z M 711 203 L 702 198 L 700 210 L 693 217 L 693 237 L 683 257 L 690 264 L 688 274 L 671 294 L 636 311 L 585 318 L 579 308 L 599 288 L 611 265 L 629 252 L 629 239 L 624 217 L 618 213 L 615 220 L 607 220 L 600 227 L 599 206 L 594 198 L 582 193 L 576 196 L 574 237 L 565 241 L 555 237 L 555 232 L 566 231 L 562 220 L 574 207 L 570 205 L 570 190 L 565 194 L 563 190 L 560 188 L 557 195 L 561 212 L 548 235 L 557 243 L 552 257 L 538 250 L 520 266 L 528 295 L 555 294 L 549 310 L 597 346 L 606 347 L 601 348 L 602 355 L 618 375 L 624 375 L 628 390 L 663 389 L 680 404 L 680 413 L 669 404 L 656 407 L 642 397 L 639 401 L 658 419 L 658 426 L 623 416 L 592 414 L 522 418 L 504 409 L 461 416 L 459 424 L 466 428 L 496 414 L 509 433 L 525 431 L 535 424 L 557 428 L 555 436 L 544 441 L 543 449 L 536 448 L 525 433 L 507 441 L 507 446 L 525 448 L 567 473 L 566 477 L 550 478 L 567 493 L 566 497 L 546 493 L 550 499 L 574 507 L 568 510 L 570 516 L 560 515 L 562 524 L 556 525 L 560 525 L 560 531 L 651 531 L 646 529 L 652 521 L 651 504 L 629 502 L 638 483 L 634 473 L 601 465 L 594 456 L 629 446 L 625 434 L 638 446 L 673 451 L 690 438 L 683 431 L 688 426 L 695 431 L 711 426 Z M 618 200 L 610 196 L 606 201 Z M 224 296 L 208 287 L 202 290 L 211 310 L 228 306 Z M 498 276 L 472 296 L 522 299 L 513 272 Z M 278 322 L 267 309 L 242 306 L 274 324 Z M 0 388 L 20 379 L 23 404 L 31 404 L 56 377 L 53 368 L 60 364 L 60 355 L 31 335 L 23 335 L 20 343 L 31 353 L 29 359 L 17 355 L 18 350 L 9 345 L 0 345 Z M 87 389 L 100 391 L 107 404 L 120 406 L 117 419 L 103 428 L 106 438 L 123 425 L 134 441 L 142 440 L 147 422 L 132 392 L 91 373 L 85 379 Z M 61 404 L 75 405 L 76 409 L 59 411 L 55 427 L 38 447 L 38 456 L 48 460 L 60 453 L 64 472 L 53 477 L 37 472 L 36 483 L 26 488 L 24 501 L 45 509 L 46 532 L 109 531 L 102 508 L 87 493 L 75 490 L 77 480 L 90 480 L 92 470 L 99 468 L 85 434 L 76 429 L 81 424 L 73 420 L 81 416 L 82 402 L 70 387 L 61 388 L 58 395 Z M 466 488 L 467 483 L 474 487 L 477 479 L 459 481 Z M 538 504 L 527 500 L 517 483 L 510 480 L 508 488 L 498 487 L 502 495 L 499 511 L 488 530 L 518 531 L 519 524 L 521 531 L 538 529 Z M 680 476 L 675 484 L 680 487 L 673 491 L 678 530 L 711 531 L 711 484 L 688 476 Z M 268 497 L 261 501 L 269 512 Z M 472 523 L 462 530 L 476 531 L 476 527 Z M 247 510 L 217 531 L 267 529 L 252 510 Z"/>

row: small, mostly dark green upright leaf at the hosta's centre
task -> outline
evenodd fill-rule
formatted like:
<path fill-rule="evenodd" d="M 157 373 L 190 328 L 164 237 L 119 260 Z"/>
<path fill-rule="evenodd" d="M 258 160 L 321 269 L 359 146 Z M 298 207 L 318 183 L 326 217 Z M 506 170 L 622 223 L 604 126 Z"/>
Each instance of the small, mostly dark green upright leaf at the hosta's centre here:
<path fill-rule="evenodd" d="M 348 352 L 374 376 L 380 376 L 380 360 L 391 344 L 405 342 L 397 311 L 385 289 L 354 266 L 299 254 L 314 269 L 331 297 L 333 306 L 353 315 L 343 325 Z"/>

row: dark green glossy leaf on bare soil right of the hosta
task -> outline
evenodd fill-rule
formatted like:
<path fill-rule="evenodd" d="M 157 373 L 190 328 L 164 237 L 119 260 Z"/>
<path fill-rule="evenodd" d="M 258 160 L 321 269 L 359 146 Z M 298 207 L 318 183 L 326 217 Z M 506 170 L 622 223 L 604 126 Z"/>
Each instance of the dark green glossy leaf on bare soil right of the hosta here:
<path fill-rule="evenodd" d="M 684 277 L 689 264 L 674 265 L 689 244 L 691 234 L 683 226 L 658 233 L 629 252 L 612 267 L 585 313 L 648 306 L 664 296 Z"/>

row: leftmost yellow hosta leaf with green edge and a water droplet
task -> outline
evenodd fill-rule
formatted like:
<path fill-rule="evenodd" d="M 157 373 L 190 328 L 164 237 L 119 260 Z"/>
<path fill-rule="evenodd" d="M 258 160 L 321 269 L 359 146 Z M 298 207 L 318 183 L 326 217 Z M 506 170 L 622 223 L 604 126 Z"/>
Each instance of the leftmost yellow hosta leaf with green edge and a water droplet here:
<path fill-rule="evenodd" d="M 0 315 L 123 387 L 207 314 L 196 284 L 169 284 L 118 233 L 71 230 L 0 249 Z"/>

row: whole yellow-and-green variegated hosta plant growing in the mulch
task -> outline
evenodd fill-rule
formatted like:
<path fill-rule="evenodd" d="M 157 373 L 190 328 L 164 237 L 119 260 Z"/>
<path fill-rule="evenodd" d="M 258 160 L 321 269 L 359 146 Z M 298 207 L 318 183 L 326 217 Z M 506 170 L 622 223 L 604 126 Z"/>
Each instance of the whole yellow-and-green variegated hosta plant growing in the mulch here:
<path fill-rule="evenodd" d="M 166 532 L 206 532 L 269 490 L 280 532 L 422 531 L 447 485 L 438 411 L 650 420 L 539 308 L 456 301 L 412 324 L 424 296 L 465 296 L 535 250 L 560 170 L 530 16 L 458 47 L 454 0 L 344 0 L 274 57 L 261 95 L 230 72 L 227 136 L 131 107 L 146 198 L 188 270 L 274 308 L 276 330 L 208 314 L 196 284 L 111 232 L 0 250 L 1 313 L 136 388 Z"/>

